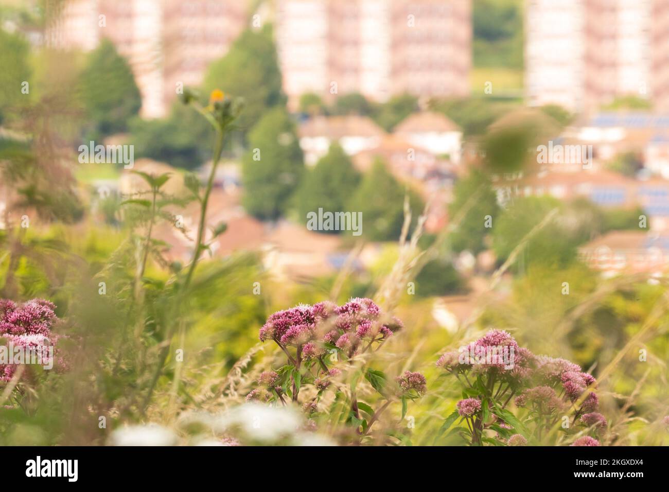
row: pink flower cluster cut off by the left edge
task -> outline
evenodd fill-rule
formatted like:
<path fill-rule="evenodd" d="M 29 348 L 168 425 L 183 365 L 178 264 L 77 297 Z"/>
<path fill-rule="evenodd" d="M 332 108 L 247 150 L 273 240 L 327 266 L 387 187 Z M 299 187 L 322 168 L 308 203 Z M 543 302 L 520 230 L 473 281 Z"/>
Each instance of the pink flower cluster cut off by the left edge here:
<path fill-rule="evenodd" d="M 56 335 L 52 327 L 58 318 L 56 306 L 44 299 L 32 299 L 17 305 L 9 299 L 0 299 L 0 338 L 3 345 L 23 347 L 35 355 L 47 355 L 47 345 L 54 345 Z M 16 364 L 0 364 L 0 381 L 9 381 L 16 372 Z"/>

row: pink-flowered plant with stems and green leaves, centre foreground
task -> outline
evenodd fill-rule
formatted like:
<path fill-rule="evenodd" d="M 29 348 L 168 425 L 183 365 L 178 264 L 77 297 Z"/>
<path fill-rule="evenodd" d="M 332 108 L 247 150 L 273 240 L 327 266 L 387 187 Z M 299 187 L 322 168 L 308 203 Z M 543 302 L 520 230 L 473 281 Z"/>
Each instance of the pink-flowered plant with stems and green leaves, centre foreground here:
<path fill-rule="evenodd" d="M 295 402 L 310 417 L 319 412 L 333 414 L 344 402 L 345 423 L 360 438 L 367 436 L 393 402 L 401 403 L 403 419 L 408 402 L 425 394 L 425 377 L 418 372 L 406 371 L 391 381 L 382 371 L 363 370 L 357 364 L 401 328 L 399 319 L 383 314 L 371 299 L 351 299 L 341 306 L 324 301 L 278 311 L 260 329 L 260 340 L 274 341 L 287 363 L 263 372 L 258 387 L 246 399 L 283 406 Z M 356 396 L 363 375 L 379 394 L 376 410 Z M 330 390 L 334 402 L 327 405 L 324 396 Z M 405 440 L 399 432 L 387 433 Z"/>

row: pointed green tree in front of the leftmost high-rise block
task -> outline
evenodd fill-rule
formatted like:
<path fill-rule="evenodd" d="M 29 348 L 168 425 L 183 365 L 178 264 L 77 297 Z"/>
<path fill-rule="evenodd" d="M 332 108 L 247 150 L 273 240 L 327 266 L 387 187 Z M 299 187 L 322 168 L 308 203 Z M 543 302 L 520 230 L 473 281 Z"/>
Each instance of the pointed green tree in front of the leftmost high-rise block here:
<path fill-rule="evenodd" d="M 128 62 L 108 39 L 102 39 L 90 52 L 81 74 L 80 93 L 90 118 L 91 139 L 126 131 L 128 120 L 142 106 Z"/>

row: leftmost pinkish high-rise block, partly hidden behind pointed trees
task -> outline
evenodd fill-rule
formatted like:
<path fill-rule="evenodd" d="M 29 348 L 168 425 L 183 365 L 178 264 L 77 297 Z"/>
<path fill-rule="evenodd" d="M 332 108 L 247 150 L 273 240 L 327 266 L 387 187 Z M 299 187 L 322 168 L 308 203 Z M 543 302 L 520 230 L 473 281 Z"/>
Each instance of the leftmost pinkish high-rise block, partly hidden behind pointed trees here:
<path fill-rule="evenodd" d="M 248 21 L 245 1 L 69 0 L 48 42 L 92 50 L 108 37 L 132 67 L 142 116 L 164 116 L 178 84 L 196 86 Z"/>

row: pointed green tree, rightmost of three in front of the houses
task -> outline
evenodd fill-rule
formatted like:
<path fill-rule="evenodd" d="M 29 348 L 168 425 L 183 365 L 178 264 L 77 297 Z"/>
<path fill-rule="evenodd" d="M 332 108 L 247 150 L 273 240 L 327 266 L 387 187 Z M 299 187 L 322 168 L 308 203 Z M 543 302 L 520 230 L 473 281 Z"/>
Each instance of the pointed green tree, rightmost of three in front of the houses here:
<path fill-rule="evenodd" d="M 365 174 L 347 210 L 363 213 L 363 236 L 373 241 L 399 239 L 404 222 L 404 197 L 409 194 L 412 223 L 421 212 L 423 203 L 411 189 L 405 190 L 386 169 L 381 160 L 375 161 Z"/>

